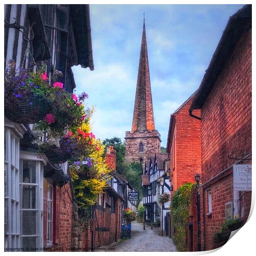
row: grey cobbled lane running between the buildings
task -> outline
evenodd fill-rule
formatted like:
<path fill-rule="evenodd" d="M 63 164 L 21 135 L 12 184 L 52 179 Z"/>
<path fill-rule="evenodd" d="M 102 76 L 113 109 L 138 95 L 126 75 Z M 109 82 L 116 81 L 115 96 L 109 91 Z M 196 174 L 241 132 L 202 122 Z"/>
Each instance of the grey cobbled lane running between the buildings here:
<path fill-rule="evenodd" d="M 114 251 L 176 251 L 173 240 L 169 237 L 161 237 L 159 228 L 153 228 L 146 225 L 143 230 L 143 223 L 133 221 L 131 229 L 131 238 L 122 239 L 117 244 L 101 247 L 112 248 Z M 109 252 L 109 251 L 108 251 Z M 112 252 L 112 250 L 111 250 Z"/>

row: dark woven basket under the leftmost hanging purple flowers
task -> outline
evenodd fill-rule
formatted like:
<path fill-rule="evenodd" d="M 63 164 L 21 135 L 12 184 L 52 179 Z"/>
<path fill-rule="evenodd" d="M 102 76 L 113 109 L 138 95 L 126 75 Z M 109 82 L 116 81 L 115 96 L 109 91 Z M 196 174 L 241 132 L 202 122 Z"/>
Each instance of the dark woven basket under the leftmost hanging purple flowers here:
<path fill-rule="evenodd" d="M 5 116 L 14 123 L 36 123 L 45 118 L 49 111 L 49 104 L 41 96 L 33 93 L 22 95 L 9 102 L 5 98 Z"/>

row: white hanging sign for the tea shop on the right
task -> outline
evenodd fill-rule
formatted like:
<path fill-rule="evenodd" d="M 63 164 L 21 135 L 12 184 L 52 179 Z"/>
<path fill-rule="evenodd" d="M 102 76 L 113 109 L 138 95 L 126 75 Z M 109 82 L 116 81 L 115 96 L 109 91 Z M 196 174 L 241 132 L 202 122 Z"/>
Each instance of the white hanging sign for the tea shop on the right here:
<path fill-rule="evenodd" d="M 234 191 L 251 191 L 251 164 L 233 164 Z"/>

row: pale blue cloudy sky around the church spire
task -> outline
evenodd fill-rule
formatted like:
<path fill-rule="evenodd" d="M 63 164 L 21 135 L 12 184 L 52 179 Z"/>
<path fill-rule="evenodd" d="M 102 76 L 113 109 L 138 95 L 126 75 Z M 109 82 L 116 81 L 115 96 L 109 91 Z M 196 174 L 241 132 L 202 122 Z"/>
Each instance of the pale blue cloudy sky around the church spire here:
<path fill-rule="evenodd" d="M 170 114 L 197 90 L 229 17 L 243 5 L 90 5 L 95 70 L 72 68 L 95 106 L 97 138 L 131 129 L 143 13 L 155 126 L 166 147 Z"/>

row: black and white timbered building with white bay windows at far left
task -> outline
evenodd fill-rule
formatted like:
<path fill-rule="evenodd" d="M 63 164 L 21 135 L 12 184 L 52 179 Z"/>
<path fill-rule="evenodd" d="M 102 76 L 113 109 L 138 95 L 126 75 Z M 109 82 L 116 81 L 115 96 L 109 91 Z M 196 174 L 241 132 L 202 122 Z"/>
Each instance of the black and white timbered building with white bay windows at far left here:
<path fill-rule="evenodd" d="M 53 69 L 62 71 L 68 92 L 76 87 L 73 65 L 94 69 L 89 5 L 5 5 L 4 11 L 5 67 L 14 60 L 18 68 L 24 56 L 27 66 L 32 55 L 37 65 L 46 65 L 48 76 Z M 4 125 L 5 248 L 42 248 L 44 233 L 46 245 L 51 245 L 52 198 L 48 192 L 45 201 L 43 182 L 45 178 L 57 186 L 69 182 L 67 162 L 54 165 L 46 157 L 38 158 L 31 143 L 36 139 L 33 124 L 5 118 Z"/>

